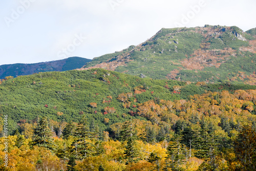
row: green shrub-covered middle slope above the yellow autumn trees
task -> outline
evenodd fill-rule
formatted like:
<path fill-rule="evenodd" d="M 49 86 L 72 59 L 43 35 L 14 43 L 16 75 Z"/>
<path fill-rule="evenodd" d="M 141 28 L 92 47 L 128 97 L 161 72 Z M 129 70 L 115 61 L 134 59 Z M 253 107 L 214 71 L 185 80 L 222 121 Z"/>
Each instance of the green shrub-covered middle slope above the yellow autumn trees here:
<path fill-rule="evenodd" d="M 237 89 L 256 87 L 142 79 L 100 68 L 42 72 L 2 82 L 0 114 L 8 115 L 9 129 L 13 130 L 22 120 L 30 123 L 44 115 L 56 121 L 78 122 L 80 114 L 85 112 L 89 120 L 94 119 L 104 130 L 107 128 L 104 118 L 110 119 L 110 125 L 132 117 L 145 119 L 133 112 L 137 111 L 138 104 L 150 100 L 159 103 L 160 100 L 188 99 L 189 95 L 207 91 Z"/>

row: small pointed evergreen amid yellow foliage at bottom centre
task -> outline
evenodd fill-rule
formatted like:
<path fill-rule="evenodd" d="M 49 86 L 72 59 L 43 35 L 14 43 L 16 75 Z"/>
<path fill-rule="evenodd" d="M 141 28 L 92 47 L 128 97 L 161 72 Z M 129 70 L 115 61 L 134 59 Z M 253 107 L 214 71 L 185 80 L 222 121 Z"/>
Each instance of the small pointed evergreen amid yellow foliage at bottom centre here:
<path fill-rule="evenodd" d="M 135 148 L 135 140 L 133 139 L 133 137 L 129 137 L 124 150 L 124 158 L 126 159 L 125 164 L 136 163 L 139 160 L 138 157 L 139 152 Z"/>

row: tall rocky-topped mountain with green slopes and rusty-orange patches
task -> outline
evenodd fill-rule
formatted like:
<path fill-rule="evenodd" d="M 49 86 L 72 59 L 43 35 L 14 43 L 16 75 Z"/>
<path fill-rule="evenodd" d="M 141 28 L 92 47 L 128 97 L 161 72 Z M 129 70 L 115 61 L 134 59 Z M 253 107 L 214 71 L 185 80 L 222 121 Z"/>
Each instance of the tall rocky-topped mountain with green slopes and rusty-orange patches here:
<path fill-rule="evenodd" d="M 256 30 L 236 26 L 161 29 L 147 41 L 94 58 L 104 68 L 153 79 L 256 84 Z"/>

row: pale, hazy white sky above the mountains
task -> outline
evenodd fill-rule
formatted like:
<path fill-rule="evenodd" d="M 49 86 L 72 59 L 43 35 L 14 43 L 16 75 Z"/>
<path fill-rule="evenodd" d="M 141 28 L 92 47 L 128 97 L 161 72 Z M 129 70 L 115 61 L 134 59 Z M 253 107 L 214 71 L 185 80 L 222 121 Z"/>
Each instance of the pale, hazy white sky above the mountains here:
<path fill-rule="evenodd" d="M 255 0 L 1 0 L 0 65 L 93 59 L 161 28 L 256 28 Z"/>

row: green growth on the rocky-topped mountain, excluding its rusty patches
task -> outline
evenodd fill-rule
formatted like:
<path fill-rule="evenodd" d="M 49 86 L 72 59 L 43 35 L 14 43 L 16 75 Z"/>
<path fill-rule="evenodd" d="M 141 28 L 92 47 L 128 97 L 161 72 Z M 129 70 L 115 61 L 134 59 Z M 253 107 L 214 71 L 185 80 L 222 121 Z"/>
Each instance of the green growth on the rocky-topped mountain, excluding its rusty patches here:
<path fill-rule="evenodd" d="M 232 82 L 242 83 L 244 80 L 237 78 L 237 74 L 240 71 L 249 76 L 256 70 L 255 63 L 251 62 L 256 58 L 256 54 L 239 50 L 241 46 L 249 46 L 249 42 L 239 40 L 235 36 L 236 33 L 241 34 L 247 40 L 254 39 L 238 27 L 205 26 L 205 28 L 161 29 L 146 42 L 138 46 L 130 46 L 122 52 L 95 58 L 86 67 L 104 63 L 107 60 L 115 61 L 118 56 L 123 55 L 129 56 L 133 61 L 126 62 L 125 66 L 118 66 L 115 71 L 136 76 L 142 73 L 153 79 L 166 79 L 170 71 L 177 69 L 179 72 L 172 79 L 193 82 L 207 80 L 207 82 L 217 83 L 228 80 L 227 77 L 236 77 Z M 210 45 L 202 48 L 201 43 Z M 229 47 L 236 51 L 236 56 L 226 57 L 226 54 L 220 54 L 220 57 L 225 59 L 218 61 L 222 63 L 219 68 L 205 66 L 201 70 L 197 67 L 190 70 L 181 64 L 181 61 L 189 59 L 195 50 L 224 50 Z"/>

